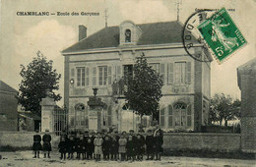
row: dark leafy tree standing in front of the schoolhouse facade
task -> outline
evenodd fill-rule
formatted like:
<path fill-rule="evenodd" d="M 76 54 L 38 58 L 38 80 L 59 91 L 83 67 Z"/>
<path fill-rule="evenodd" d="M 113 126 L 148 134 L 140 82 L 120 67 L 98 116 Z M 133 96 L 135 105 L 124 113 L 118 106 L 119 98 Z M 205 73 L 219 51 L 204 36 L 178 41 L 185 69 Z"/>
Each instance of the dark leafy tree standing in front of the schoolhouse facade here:
<path fill-rule="evenodd" d="M 144 53 L 137 58 L 134 74 L 125 76 L 125 83 L 128 85 L 126 91 L 128 106 L 136 114 L 142 118 L 143 115 L 158 112 L 163 83 L 160 74 L 149 66 Z"/>

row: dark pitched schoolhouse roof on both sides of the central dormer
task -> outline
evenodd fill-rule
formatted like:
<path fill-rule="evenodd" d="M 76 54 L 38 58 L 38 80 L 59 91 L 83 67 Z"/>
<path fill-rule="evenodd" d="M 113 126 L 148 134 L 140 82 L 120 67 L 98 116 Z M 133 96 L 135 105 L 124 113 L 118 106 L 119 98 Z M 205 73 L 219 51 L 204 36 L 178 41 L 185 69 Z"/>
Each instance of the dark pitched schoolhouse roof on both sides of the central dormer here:
<path fill-rule="evenodd" d="M 137 25 L 142 29 L 142 35 L 137 45 L 164 44 L 182 42 L 182 25 L 175 22 L 162 22 Z M 195 38 L 193 38 L 195 40 Z M 74 52 L 87 49 L 119 46 L 119 27 L 108 27 L 75 43 L 62 52 Z"/>

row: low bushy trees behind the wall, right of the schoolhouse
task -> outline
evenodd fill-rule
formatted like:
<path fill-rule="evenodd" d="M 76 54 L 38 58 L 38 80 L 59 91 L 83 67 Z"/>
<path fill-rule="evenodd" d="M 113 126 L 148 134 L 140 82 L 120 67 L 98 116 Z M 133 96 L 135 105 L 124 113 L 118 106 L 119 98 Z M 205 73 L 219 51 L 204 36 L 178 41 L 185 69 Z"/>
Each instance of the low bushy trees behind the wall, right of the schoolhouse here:
<path fill-rule="evenodd" d="M 240 105 L 241 101 L 233 101 L 230 95 L 215 94 L 210 104 L 210 122 L 219 122 L 222 126 L 224 121 L 224 126 L 227 126 L 227 121 L 240 118 Z"/>

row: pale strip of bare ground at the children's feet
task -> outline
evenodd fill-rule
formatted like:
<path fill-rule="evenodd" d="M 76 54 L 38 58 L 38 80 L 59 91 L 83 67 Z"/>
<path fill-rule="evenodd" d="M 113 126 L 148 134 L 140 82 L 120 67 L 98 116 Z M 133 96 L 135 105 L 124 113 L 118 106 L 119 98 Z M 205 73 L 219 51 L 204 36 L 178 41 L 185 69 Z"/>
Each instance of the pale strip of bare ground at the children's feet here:
<path fill-rule="evenodd" d="M 179 157 L 179 156 L 162 156 L 161 161 L 100 161 L 94 160 L 60 160 L 59 153 L 54 151 L 51 158 L 33 159 L 32 151 L 16 151 L 16 152 L 0 152 L 2 159 L 0 160 L 0 167 L 37 167 L 37 166 L 53 166 L 53 167 L 72 167 L 72 166 L 92 166 L 92 167 L 157 167 L 157 166 L 244 166 L 256 167 L 256 160 L 240 160 L 240 159 L 220 159 L 220 158 L 199 158 L 199 157 Z"/>

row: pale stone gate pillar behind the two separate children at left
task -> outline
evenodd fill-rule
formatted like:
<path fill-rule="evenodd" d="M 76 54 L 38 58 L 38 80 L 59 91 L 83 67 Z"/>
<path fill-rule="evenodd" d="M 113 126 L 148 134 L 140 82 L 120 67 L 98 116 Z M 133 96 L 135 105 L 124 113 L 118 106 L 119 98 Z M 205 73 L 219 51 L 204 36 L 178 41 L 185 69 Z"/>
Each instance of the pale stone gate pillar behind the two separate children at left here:
<path fill-rule="evenodd" d="M 49 132 L 53 132 L 53 111 L 56 106 L 56 102 L 48 95 L 41 99 L 41 132 L 45 132 L 46 129 Z"/>

